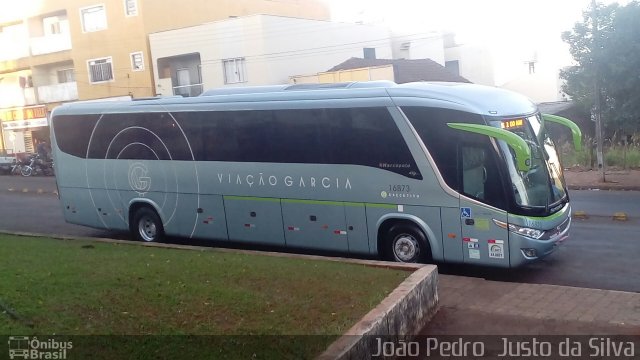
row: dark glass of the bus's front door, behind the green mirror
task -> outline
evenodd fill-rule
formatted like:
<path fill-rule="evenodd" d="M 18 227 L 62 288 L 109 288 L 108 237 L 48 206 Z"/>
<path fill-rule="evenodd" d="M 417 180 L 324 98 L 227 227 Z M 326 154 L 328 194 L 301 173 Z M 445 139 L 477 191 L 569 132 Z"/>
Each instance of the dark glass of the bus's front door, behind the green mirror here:
<path fill-rule="evenodd" d="M 462 192 L 500 209 L 505 207 L 500 171 L 495 151 L 481 144 L 460 145 Z"/>

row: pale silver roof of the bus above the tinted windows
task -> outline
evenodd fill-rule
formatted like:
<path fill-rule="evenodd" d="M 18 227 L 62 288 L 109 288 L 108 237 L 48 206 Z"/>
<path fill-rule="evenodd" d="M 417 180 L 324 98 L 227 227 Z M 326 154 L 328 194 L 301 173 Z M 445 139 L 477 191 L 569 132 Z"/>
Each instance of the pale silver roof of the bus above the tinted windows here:
<path fill-rule="evenodd" d="M 490 86 L 452 82 L 414 82 L 396 84 L 391 81 L 347 82 L 328 84 L 294 84 L 219 88 L 196 97 L 156 97 L 128 101 L 92 101 L 65 104 L 56 114 L 138 112 L 150 106 L 167 110 L 189 104 L 205 105 L 273 101 L 307 101 L 366 98 L 415 98 L 449 102 L 470 112 L 487 116 L 530 114 L 536 106 L 525 96 Z M 198 106 L 200 107 L 200 106 Z"/>

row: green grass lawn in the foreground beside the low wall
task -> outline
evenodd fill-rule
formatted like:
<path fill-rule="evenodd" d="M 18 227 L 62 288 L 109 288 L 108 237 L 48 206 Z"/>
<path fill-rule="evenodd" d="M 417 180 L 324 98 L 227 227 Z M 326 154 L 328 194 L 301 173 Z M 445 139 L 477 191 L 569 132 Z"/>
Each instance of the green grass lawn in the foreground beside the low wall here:
<path fill-rule="evenodd" d="M 336 262 L 49 238 L 0 235 L 0 246 L 0 334 L 154 335 L 72 338 L 87 343 L 89 352 L 110 348 L 105 358 L 183 357 L 204 348 L 220 358 L 237 351 L 267 354 L 257 358 L 312 357 L 409 275 Z"/>

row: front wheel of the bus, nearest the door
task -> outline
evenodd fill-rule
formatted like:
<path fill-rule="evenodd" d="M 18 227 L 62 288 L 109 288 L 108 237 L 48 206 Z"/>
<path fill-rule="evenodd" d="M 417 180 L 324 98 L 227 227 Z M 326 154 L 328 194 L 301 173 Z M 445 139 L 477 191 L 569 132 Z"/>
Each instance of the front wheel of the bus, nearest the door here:
<path fill-rule="evenodd" d="M 431 248 L 422 230 L 408 223 L 391 226 L 385 238 L 385 257 L 389 261 L 426 263 L 431 261 Z"/>

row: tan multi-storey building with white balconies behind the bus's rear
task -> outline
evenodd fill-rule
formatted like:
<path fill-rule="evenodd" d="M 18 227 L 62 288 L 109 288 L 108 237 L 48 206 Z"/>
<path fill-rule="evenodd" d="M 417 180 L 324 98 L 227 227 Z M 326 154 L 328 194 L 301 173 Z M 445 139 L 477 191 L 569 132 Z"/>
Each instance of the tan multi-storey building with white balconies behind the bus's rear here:
<path fill-rule="evenodd" d="M 48 140 L 43 114 L 61 103 L 156 95 L 150 33 L 251 14 L 330 18 L 322 0 L 0 4 L 0 150 L 10 152 L 33 152 L 35 139 Z"/>

